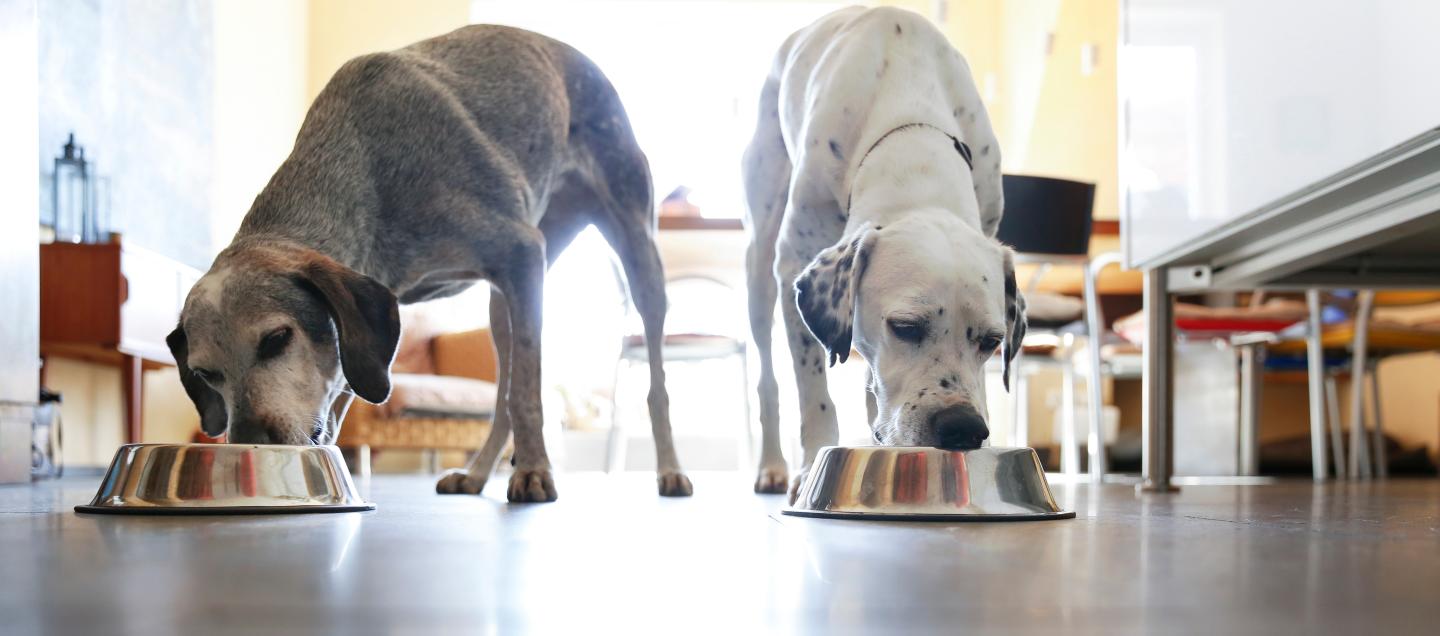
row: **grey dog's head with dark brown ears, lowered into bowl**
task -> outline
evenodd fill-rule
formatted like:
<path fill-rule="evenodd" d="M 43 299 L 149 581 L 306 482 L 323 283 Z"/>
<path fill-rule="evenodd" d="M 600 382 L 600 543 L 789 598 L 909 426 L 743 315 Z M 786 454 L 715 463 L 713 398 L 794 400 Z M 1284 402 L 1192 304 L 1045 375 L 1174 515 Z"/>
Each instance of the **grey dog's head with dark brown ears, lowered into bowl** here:
<path fill-rule="evenodd" d="M 333 443 L 331 404 L 390 394 L 399 305 L 384 285 L 300 247 L 222 255 L 190 291 L 167 342 L 210 436 Z"/>

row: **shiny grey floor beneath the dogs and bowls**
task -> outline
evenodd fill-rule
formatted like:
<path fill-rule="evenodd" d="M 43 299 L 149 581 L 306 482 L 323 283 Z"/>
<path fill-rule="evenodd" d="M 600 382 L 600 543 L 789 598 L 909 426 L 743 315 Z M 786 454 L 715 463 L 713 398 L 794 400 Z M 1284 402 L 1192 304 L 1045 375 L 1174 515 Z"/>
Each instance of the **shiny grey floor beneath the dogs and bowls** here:
<path fill-rule="evenodd" d="M 0 633 L 1434 633 L 1440 482 L 1056 485 L 1071 521 L 805 519 L 742 475 L 562 475 L 364 514 L 95 517 L 0 486 Z"/>

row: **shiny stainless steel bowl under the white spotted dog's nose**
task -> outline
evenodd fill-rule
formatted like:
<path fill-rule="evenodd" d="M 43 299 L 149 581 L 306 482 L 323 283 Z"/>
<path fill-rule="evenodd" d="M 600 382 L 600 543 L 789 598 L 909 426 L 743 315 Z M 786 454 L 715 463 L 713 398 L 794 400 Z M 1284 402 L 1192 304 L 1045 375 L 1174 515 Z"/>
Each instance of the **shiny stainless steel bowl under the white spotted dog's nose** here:
<path fill-rule="evenodd" d="M 890 521 L 1068 519 L 1032 449 L 946 450 L 828 446 L 795 504 L 796 517 Z"/>

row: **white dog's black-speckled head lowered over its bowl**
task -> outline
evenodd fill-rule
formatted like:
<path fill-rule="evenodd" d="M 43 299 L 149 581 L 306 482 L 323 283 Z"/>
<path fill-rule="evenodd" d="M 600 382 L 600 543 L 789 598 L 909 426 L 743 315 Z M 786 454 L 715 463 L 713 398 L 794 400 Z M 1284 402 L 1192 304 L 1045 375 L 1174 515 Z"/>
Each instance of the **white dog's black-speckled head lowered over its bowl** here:
<path fill-rule="evenodd" d="M 844 361 L 871 371 L 880 443 L 976 448 L 988 436 L 985 363 L 1025 334 L 1011 250 L 945 214 L 863 226 L 795 281 L 801 315 Z"/>

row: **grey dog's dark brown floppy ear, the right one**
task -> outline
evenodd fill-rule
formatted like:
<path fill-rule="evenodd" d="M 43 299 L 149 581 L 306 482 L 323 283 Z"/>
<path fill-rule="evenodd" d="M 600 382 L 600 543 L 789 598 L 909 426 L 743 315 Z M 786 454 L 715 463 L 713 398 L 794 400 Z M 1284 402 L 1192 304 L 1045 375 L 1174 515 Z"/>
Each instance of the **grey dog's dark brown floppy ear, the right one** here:
<path fill-rule="evenodd" d="M 400 305 L 376 279 L 315 255 L 300 271 L 336 321 L 340 368 L 356 396 L 372 404 L 390 397 L 390 363 L 400 342 Z"/>

